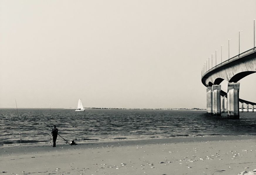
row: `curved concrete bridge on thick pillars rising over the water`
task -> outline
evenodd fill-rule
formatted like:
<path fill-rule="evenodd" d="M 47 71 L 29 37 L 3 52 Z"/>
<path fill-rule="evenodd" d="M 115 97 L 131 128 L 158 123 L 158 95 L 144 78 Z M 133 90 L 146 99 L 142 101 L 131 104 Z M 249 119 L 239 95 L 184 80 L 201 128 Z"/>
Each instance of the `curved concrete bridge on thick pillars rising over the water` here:
<path fill-rule="evenodd" d="M 254 111 L 256 103 L 239 98 L 240 83 L 237 82 L 255 72 L 256 47 L 240 53 L 211 69 L 209 69 L 209 64 L 206 65 L 202 71 L 201 81 L 207 87 L 207 113 L 221 115 L 221 112 L 224 112 L 225 97 L 227 98 L 227 118 L 239 119 L 239 102 L 242 103 L 242 112 L 243 103 L 247 105 L 247 112 L 249 104 L 252 105 L 252 111 Z M 223 80 L 228 81 L 228 92 L 221 90 L 220 83 Z"/>

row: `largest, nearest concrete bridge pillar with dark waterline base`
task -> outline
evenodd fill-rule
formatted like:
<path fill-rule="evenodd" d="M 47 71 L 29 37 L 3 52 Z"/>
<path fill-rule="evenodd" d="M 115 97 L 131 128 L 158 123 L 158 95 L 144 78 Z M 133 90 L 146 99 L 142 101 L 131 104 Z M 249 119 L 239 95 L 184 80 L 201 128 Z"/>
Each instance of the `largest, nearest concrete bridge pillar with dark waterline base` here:
<path fill-rule="evenodd" d="M 228 83 L 228 118 L 239 119 L 239 87 L 240 83 Z"/>

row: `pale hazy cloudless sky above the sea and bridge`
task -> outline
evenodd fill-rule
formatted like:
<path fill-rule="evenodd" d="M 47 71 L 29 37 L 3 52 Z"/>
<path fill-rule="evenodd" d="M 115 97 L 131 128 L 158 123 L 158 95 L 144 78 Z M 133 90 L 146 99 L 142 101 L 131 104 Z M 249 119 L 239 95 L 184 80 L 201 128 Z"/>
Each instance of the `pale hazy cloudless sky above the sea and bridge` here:
<path fill-rule="evenodd" d="M 201 68 L 253 47 L 255 0 L 0 0 L 0 107 L 206 108 Z M 215 55 L 213 55 L 215 58 Z M 214 65 L 215 63 L 213 63 Z M 256 102 L 256 74 L 240 98 Z M 222 83 L 227 89 L 227 83 Z"/>

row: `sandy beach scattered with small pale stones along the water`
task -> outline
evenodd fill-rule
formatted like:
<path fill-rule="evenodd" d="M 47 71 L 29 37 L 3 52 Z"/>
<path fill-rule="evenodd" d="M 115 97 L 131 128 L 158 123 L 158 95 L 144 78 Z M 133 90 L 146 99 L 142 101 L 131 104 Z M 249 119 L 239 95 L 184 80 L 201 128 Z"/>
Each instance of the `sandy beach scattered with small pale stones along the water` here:
<path fill-rule="evenodd" d="M 255 136 L 0 147 L 0 174 L 234 175 L 256 168 Z"/>

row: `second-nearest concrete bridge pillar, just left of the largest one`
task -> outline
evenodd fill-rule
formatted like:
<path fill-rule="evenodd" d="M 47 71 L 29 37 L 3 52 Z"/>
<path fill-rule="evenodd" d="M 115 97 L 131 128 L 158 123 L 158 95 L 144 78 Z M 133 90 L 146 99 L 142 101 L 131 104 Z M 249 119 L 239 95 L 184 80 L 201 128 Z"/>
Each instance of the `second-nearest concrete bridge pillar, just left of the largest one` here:
<path fill-rule="evenodd" d="M 213 93 L 213 115 L 221 115 L 221 85 L 212 86 Z"/>

